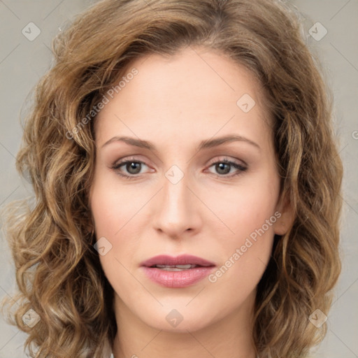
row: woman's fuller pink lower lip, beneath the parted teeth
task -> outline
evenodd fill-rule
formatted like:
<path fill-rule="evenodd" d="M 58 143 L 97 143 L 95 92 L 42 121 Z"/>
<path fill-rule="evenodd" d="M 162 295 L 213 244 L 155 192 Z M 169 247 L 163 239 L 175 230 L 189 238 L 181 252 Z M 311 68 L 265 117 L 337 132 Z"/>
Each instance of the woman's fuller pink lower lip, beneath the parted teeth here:
<path fill-rule="evenodd" d="M 195 267 L 182 271 L 165 271 L 161 268 L 142 266 L 145 275 L 159 285 L 171 288 L 182 288 L 194 285 L 210 274 L 215 266 Z"/>

